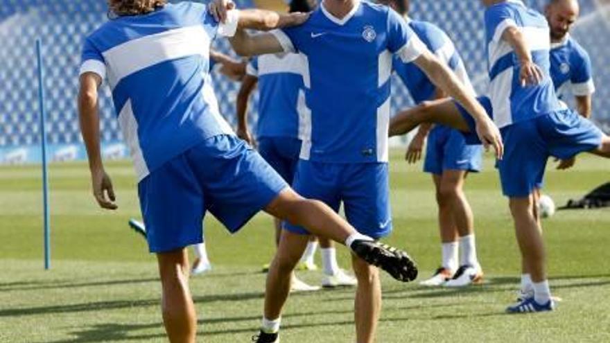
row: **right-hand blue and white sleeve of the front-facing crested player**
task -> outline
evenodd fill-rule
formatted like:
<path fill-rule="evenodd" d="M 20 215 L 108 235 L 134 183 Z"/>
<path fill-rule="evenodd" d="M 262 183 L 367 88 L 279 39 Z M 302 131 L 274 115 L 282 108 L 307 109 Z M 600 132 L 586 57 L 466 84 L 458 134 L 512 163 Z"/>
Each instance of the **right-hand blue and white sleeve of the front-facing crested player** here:
<path fill-rule="evenodd" d="M 428 50 L 397 12 L 388 10 L 387 13 L 387 49 L 391 53 L 409 63 Z"/>

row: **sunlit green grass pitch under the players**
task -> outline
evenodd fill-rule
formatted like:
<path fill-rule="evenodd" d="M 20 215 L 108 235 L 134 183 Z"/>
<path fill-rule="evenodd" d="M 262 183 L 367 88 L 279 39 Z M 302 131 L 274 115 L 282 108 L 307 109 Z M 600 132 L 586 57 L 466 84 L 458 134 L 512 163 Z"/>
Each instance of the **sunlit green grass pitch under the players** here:
<path fill-rule="evenodd" d="M 439 264 L 430 177 L 392 153 L 394 233 L 421 276 Z M 551 166 L 549 166 L 551 168 Z M 557 204 L 607 182 L 610 162 L 580 157 L 567 172 L 549 169 Z M 129 162 L 112 162 L 119 210 L 98 209 L 85 164 L 51 166 L 52 270 L 42 263 L 40 167 L 0 167 L 0 342 L 164 342 L 156 261 L 127 221 L 139 217 Z M 384 276 L 378 342 L 610 342 L 610 211 L 561 211 L 545 220 L 555 313 L 505 315 L 519 282 L 519 254 L 507 201 L 491 159 L 471 175 L 478 254 L 487 275 L 464 290 L 421 288 Z M 263 263 L 271 220 L 259 215 L 235 236 L 213 218 L 205 230 L 214 271 L 191 281 L 200 342 L 250 342 L 263 306 Z M 347 252 L 340 249 L 347 267 Z M 301 273 L 311 283 L 317 272 Z M 282 342 L 354 342 L 354 290 L 293 294 Z"/>

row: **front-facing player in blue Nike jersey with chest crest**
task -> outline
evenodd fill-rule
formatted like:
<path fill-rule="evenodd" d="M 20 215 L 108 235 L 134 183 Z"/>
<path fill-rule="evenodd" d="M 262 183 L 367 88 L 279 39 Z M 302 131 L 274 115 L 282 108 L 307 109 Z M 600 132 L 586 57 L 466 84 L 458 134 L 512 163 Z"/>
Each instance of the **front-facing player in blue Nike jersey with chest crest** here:
<path fill-rule="evenodd" d="M 487 145 L 501 155 L 499 132 L 485 110 L 445 64 L 426 49 L 401 17 L 386 6 L 358 0 L 324 0 L 302 26 L 251 35 L 238 30 L 241 55 L 299 52 L 306 59 L 306 125 L 294 187 L 338 211 L 358 231 L 382 238 L 392 231 L 387 173 L 392 56 L 415 62 L 435 85 L 458 98 Z M 299 225 L 284 227 L 268 273 L 258 342 L 277 342 L 290 273 L 307 244 Z M 358 279 L 357 342 L 375 339 L 381 312 L 378 270 L 354 256 Z"/>

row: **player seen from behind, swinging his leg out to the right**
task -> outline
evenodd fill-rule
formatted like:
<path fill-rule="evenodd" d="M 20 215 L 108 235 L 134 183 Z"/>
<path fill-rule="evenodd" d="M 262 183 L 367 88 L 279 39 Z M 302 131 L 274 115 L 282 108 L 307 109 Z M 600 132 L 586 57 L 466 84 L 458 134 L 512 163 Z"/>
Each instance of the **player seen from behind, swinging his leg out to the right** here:
<path fill-rule="evenodd" d="M 171 342 L 195 342 L 185 247 L 202 241 L 207 210 L 235 232 L 264 209 L 345 243 L 396 279 L 415 278 L 417 269 L 405 252 L 358 234 L 322 202 L 297 195 L 218 112 L 209 81 L 211 41 L 233 35 L 237 27 L 268 30 L 300 24 L 308 15 L 243 10 L 218 24 L 210 12 L 215 6 L 190 1 L 110 0 L 108 5 L 113 19 L 84 42 L 80 128 L 94 197 L 104 209 L 115 210 L 99 139 L 98 89 L 107 79 L 134 160 L 148 246 L 157 254 Z"/>

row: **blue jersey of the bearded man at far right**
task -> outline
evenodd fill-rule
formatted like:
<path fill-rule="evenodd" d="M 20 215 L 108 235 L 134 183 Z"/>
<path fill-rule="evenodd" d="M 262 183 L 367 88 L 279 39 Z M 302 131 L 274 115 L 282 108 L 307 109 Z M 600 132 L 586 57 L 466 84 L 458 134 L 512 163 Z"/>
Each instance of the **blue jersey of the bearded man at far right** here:
<path fill-rule="evenodd" d="M 550 77 L 560 99 L 569 94 L 590 96 L 595 92 L 589 53 L 570 35 L 551 44 Z"/>

